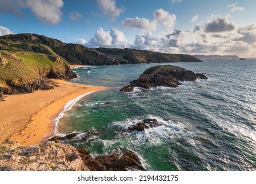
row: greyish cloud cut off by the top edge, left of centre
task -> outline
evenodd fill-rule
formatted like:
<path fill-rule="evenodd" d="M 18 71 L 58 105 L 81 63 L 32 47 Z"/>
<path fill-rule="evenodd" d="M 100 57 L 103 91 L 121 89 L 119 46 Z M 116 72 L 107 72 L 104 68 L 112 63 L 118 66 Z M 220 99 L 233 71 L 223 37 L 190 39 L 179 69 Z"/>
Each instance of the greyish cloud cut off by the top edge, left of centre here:
<path fill-rule="evenodd" d="M 103 11 L 104 15 L 117 17 L 120 16 L 124 9 L 116 7 L 115 0 L 97 0 L 99 8 Z"/>

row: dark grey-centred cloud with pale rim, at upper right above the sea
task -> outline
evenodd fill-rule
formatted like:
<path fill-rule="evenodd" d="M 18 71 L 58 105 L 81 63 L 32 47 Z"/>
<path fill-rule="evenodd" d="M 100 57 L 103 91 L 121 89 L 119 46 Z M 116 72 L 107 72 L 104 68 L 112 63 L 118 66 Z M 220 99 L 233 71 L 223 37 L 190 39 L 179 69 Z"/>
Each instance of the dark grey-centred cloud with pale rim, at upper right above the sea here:
<path fill-rule="evenodd" d="M 215 18 L 212 22 L 205 24 L 205 32 L 218 33 L 236 30 L 236 24 L 229 22 L 227 18 Z"/>

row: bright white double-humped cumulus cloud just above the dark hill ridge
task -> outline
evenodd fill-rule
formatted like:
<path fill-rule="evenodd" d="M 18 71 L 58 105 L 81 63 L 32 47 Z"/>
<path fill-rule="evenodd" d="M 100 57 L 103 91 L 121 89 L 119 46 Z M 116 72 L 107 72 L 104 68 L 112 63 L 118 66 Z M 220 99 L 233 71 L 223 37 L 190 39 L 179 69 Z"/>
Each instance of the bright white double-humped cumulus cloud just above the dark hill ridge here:
<path fill-rule="evenodd" d="M 90 39 L 92 47 L 128 47 L 128 41 L 124 34 L 113 28 L 110 32 L 105 32 L 103 28 L 99 28 L 94 37 Z"/>

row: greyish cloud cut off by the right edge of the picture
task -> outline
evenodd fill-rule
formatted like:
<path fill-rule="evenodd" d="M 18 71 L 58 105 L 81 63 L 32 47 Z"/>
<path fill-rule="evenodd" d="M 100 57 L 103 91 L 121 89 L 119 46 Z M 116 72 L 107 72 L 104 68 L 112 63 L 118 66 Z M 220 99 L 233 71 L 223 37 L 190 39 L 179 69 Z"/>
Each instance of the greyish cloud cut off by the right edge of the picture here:
<path fill-rule="evenodd" d="M 256 24 L 251 24 L 244 28 L 238 29 L 238 34 L 242 37 L 234 39 L 235 41 L 243 41 L 248 44 L 256 43 Z"/>

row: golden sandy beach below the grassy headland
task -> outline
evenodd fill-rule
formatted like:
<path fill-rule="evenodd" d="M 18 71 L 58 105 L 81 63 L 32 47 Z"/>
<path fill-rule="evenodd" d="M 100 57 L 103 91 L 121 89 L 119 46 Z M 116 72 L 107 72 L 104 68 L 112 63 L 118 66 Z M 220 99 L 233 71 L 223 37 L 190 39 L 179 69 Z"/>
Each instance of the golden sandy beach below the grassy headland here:
<path fill-rule="evenodd" d="M 74 66 L 77 67 L 77 66 Z M 54 132 L 53 120 L 68 101 L 104 87 L 55 80 L 59 87 L 21 95 L 6 95 L 0 102 L 0 143 L 9 139 L 22 145 L 40 143 Z"/>

